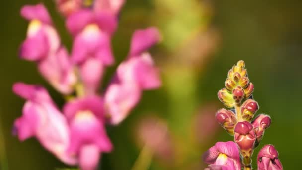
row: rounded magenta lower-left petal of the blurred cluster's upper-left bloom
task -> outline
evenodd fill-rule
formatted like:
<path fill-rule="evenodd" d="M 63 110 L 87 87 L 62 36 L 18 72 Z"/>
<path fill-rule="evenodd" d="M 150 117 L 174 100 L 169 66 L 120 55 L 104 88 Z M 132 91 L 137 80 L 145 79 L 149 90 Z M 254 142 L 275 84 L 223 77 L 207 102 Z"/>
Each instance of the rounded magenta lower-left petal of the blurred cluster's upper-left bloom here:
<path fill-rule="evenodd" d="M 37 61 L 45 57 L 49 50 L 49 43 L 44 31 L 39 30 L 35 35 L 27 37 L 19 50 L 19 55 L 26 60 Z"/>

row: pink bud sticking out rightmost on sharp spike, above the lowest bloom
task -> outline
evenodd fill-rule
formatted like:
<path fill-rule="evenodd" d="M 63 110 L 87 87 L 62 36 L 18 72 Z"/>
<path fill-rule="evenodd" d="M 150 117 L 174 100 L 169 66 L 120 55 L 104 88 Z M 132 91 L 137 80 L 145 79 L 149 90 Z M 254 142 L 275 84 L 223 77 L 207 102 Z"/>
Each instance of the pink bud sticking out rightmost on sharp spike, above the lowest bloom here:
<path fill-rule="evenodd" d="M 266 128 L 268 128 L 271 124 L 271 118 L 268 115 L 260 114 L 255 118 L 255 120 L 252 121 L 252 125 L 255 129 L 257 141 L 256 143 L 259 144 L 259 142 L 262 139 L 262 136 L 264 134 L 264 131 Z"/>

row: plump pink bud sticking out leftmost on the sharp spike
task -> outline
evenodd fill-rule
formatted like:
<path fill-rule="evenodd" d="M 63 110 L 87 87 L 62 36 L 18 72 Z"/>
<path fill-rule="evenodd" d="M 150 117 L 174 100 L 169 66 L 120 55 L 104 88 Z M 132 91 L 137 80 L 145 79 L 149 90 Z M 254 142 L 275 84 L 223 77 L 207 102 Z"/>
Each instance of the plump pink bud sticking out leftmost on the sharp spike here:
<path fill-rule="evenodd" d="M 235 113 L 227 109 L 220 109 L 216 113 L 216 121 L 227 130 L 230 135 L 234 135 L 234 127 L 237 123 Z"/>

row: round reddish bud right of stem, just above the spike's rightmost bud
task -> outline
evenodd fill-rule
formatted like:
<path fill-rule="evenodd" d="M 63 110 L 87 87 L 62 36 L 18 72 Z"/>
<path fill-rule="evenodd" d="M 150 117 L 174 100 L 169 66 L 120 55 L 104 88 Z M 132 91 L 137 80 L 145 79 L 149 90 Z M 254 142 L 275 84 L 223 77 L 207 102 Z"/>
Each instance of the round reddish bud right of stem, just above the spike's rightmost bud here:
<path fill-rule="evenodd" d="M 252 99 L 246 100 L 241 106 L 242 118 L 246 121 L 251 121 L 258 109 L 259 106 L 255 100 Z"/>

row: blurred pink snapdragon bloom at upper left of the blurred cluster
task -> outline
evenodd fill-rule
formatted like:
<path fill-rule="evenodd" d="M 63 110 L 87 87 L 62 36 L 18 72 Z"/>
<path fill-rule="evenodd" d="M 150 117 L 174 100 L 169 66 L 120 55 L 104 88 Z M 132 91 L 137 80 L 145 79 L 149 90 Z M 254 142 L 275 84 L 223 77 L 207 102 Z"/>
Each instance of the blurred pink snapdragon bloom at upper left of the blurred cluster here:
<path fill-rule="evenodd" d="M 21 58 L 36 61 L 40 73 L 51 85 L 61 93 L 71 93 L 76 82 L 74 69 L 46 8 L 42 4 L 26 5 L 21 15 L 30 21 L 20 48 Z"/>

